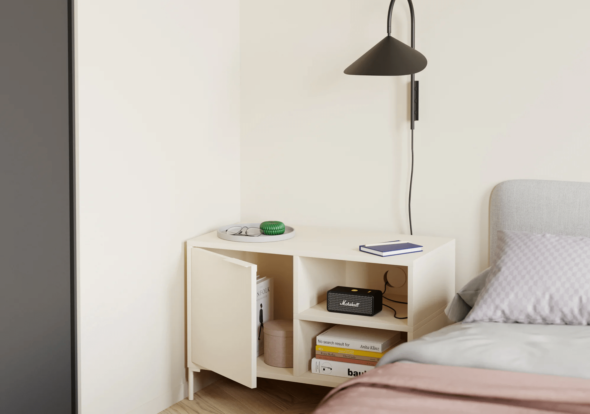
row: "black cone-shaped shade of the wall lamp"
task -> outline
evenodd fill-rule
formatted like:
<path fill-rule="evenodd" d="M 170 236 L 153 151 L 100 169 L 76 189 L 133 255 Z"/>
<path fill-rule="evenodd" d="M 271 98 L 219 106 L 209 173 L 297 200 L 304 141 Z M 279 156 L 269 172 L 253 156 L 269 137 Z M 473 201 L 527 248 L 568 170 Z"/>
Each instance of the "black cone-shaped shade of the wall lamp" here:
<path fill-rule="evenodd" d="M 346 68 L 347 75 L 401 76 L 423 70 L 428 61 L 419 51 L 387 36 Z"/>

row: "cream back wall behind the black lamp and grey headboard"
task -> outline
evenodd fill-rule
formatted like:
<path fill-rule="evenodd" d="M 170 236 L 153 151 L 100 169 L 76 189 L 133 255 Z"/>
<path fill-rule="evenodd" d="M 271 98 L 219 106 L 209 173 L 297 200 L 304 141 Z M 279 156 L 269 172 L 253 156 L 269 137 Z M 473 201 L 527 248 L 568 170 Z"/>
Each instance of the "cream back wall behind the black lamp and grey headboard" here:
<path fill-rule="evenodd" d="M 409 233 L 409 76 L 342 73 L 385 37 L 388 4 L 242 0 L 242 220 Z M 457 239 L 460 287 L 487 267 L 494 185 L 590 181 L 590 2 L 415 0 L 415 11 L 428 67 L 414 233 Z M 408 18 L 399 0 L 394 36 L 407 43 Z"/>

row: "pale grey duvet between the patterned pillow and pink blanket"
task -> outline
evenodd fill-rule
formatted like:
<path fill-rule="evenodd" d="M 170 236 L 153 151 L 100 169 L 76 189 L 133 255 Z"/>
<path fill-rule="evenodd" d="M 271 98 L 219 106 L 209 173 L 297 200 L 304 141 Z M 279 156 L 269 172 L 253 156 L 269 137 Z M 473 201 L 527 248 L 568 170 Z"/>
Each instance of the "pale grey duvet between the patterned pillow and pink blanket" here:
<path fill-rule="evenodd" d="M 590 379 L 590 326 L 458 323 L 395 347 L 377 366 L 396 361 Z"/>

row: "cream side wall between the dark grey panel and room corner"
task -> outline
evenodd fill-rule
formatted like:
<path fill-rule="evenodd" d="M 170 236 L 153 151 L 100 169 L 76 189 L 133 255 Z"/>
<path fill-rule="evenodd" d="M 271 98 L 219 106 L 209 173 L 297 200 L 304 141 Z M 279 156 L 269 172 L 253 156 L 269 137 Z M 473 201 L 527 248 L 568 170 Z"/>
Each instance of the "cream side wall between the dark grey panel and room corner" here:
<path fill-rule="evenodd" d="M 240 217 L 238 6 L 77 1 L 83 414 L 187 395 L 183 242 Z"/>

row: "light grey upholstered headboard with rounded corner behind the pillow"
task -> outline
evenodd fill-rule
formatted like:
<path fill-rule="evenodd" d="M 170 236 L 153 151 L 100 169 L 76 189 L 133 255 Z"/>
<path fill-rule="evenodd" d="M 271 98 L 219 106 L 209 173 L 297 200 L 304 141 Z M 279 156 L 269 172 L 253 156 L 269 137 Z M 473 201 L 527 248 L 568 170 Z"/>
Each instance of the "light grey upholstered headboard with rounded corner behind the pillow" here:
<path fill-rule="evenodd" d="M 590 182 L 500 182 L 490 200 L 490 264 L 498 230 L 590 237 Z"/>

